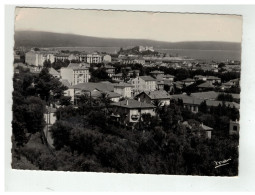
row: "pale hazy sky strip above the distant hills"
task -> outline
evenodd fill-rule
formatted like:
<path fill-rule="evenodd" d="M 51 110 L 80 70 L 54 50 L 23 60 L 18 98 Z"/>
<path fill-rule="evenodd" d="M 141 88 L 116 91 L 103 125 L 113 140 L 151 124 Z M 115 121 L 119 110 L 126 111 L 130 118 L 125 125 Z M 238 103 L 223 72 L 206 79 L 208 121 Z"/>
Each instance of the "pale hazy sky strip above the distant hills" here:
<path fill-rule="evenodd" d="M 48 31 L 109 38 L 142 38 L 169 42 L 241 42 L 242 17 L 17 8 L 15 30 Z"/>

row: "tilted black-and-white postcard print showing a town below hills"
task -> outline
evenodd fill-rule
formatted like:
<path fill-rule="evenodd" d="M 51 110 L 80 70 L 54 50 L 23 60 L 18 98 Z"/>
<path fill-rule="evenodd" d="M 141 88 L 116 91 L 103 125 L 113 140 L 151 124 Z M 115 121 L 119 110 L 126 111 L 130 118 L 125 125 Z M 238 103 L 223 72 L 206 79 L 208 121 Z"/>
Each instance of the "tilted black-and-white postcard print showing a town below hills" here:
<path fill-rule="evenodd" d="M 12 169 L 238 176 L 242 25 L 16 7 Z"/>

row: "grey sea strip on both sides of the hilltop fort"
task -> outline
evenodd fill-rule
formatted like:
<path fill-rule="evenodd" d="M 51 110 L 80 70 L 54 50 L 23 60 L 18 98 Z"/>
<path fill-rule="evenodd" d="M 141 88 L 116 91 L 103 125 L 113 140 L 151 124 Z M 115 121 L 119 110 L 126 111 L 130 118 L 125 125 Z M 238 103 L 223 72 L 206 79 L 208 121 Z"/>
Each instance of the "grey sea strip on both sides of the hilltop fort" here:
<path fill-rule="evenodd" d="M 106 52 L 117 53 L 120 47 L 55 47 L 58 50 L 84 51 L 84 52 Z M 171 56 L 189 57 L 195 60 L 205 61 L 241 61 L 241 51 L 239 50 L 198 50 L 198 49 L 169 49 L 154 48 L 155 51 L 167 53 Z"/>

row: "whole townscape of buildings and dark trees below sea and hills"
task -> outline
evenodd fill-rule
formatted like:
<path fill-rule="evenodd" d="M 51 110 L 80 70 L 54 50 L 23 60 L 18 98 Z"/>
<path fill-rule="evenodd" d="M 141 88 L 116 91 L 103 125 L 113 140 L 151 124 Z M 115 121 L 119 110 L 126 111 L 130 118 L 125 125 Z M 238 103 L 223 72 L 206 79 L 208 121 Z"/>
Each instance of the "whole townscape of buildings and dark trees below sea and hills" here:
<path fill-rule="evenodd" d="M 15 48 L 13 167 L 237 175 L 240 70 L 152 46 Z"/>

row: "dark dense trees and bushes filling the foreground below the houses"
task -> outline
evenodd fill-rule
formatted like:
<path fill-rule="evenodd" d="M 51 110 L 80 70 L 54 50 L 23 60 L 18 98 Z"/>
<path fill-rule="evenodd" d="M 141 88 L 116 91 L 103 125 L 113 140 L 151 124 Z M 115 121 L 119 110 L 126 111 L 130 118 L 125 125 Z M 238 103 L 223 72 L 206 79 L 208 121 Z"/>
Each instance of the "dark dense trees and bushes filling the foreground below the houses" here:
<path fill-rule="evenodd" d="M 180 71 L 178 79 L 188 74 Z M 193 114 L 182 101 L 163 107 L 155 101 L 156 116 L 143 115 L 143 120 L 130 127 L 112 120 L 106 95 L 97 99 L 81 96 L 74 107 L 63 97 L 64 89 L 47 69 L 38 76 L 29 72 L 14 76 L 13 168 L 238 175 L 239 140 L 227 132 L 229 120 L 239 118 L 235 108 L 224 104 L 208 108 L 203 102 L 199 113 Z M 49 150 L 41 141 L 43 111 L 45 104 L 57 101 L 63 106 L 57 109 L 57 122 L 50 130 L 54 150 Z M 214 129 L 212 139 L 204 136 L 201 122 Z M 214 161 L 225 159 L 231 159 L 227 166 L 215 168 Z"/>

